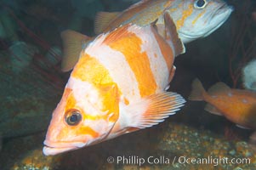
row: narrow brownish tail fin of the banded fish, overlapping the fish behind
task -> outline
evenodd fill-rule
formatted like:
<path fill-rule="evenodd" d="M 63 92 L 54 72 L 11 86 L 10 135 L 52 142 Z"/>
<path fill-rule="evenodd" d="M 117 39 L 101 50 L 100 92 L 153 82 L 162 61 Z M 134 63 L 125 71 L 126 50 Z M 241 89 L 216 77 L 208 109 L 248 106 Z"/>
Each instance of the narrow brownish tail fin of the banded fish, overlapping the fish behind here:
<path fill-rule="evenodd" d="M 178 31 L 176 29 L 174 20 L 170 14 L 164 13 L 164 24 L 165 24 L 165 40 L 174 50 L 174 56 L 185 53 L 185 47 L 183 42 L 179 38 Z"/>

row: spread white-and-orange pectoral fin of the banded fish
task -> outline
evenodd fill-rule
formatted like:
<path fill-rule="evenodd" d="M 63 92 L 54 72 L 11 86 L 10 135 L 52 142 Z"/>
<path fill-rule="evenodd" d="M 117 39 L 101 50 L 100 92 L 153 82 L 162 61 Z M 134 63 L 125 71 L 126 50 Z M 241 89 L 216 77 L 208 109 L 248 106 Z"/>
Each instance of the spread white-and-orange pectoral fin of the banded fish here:
<path fill-rule="evenodd" d="M 166 92 L 153 94 L 141 102 L 128 105 L 128 127 L 145 128 L 163 122 L 164 118 L 174 115 L 185 103 L 179 94 Z M 132 129 L 132 128 L 131 128 Z"/>

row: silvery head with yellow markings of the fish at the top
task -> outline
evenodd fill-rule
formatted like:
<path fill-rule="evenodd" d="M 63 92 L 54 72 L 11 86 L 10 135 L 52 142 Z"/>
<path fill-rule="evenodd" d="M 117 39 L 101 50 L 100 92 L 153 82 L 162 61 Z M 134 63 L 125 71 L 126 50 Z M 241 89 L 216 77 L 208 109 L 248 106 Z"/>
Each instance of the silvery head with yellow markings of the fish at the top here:
<path fill-rule="evenodd" d="M 233 11 L 233 7 L 223 0 L 175 2 L 167 11 L 176 23 L 179 37 L 185 43 L 207 37 L 218 29 Z"/>

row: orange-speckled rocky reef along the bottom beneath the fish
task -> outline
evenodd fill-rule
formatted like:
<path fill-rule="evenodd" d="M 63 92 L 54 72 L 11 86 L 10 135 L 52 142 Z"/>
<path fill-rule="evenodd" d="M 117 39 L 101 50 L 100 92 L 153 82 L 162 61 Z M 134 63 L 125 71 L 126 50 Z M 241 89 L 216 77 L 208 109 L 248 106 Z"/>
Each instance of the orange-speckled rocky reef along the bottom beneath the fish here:
<path fill-rule="evenodd" d="M 1 169 L 256 168 L 256 150 L 246 141 L 175 122 L 57 156 L 43 156 L 43 138 L 41 133 L 5 141 Z"/>

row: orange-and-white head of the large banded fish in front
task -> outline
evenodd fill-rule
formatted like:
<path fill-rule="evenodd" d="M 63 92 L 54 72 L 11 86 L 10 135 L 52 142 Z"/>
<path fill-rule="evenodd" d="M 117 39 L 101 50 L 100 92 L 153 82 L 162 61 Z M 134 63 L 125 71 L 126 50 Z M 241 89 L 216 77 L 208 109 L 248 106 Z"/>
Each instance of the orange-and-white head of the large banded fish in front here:
<path fill-rule="evenodd" d="M 99 87 L 71 77 L 44 140 L 44 155 L 97 144 L 111 133 L 119 114 L 116 84 Z"/>

